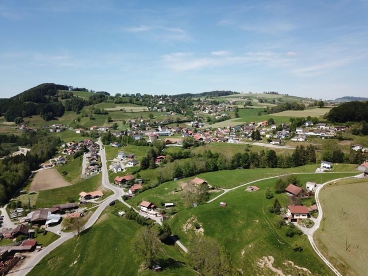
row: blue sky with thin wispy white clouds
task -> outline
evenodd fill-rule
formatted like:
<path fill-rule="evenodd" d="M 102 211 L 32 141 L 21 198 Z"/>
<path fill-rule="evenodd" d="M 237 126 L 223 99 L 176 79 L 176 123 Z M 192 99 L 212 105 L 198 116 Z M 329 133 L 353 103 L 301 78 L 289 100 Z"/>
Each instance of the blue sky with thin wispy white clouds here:
<path fill-rule="evenodd" d="M 368 96 L 367 14 L 366 0 L 0 0 L 0 97 L 43 82 Z"/>

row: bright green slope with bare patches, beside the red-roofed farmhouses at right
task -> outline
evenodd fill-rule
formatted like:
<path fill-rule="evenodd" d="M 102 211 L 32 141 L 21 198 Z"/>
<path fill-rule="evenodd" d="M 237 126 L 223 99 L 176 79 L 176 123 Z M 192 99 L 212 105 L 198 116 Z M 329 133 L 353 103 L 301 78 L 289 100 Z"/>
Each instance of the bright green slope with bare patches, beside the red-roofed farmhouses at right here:
<path fill-rule="evenodd" d="M 322 181 L 347 176 L 346 174 L 323 174 Z M 298 176 L 302 183 L 320 181 L 317 174 Z M 245 181 L 244 181 L 245 182 Z M 169 222 L 173 233 L 180 237 L 184 245 L 190 244 L 191 231 L 184 231 L 183 225 L 194 217 L 202 225 L 204 234 L 215 238 L 230 251 L 233 264 L 243 270 L 244 275 L 273 275 L 268 268 L 261 269 L 257 262 L 264 256 L 273 256 L 273 266 L 282 270 L 285 275 L 302 273 L 295 265 L 307 268 L 312 275 L 332 275 L 332 271 L 312 250 L 307 236 L 285 236 L 285 227 L 274 226 L 276 215 L 267 212 L 273 199 L 265 199 L 267 187 L 273 190 L 275 179 L 260 181 L 256 185 L 261 188 L 257 192 L 246 192 L 245 187 L 231 191 L 209 204 L 199 205 L 178 212 Z M 282 206 L 287 205 L 286 194 L 275 194 Z M 219 207 L 226 202 L 226 208 Z M 294 242 L 303 248 L 302 252 L 292 249 Z M 304 273 L 302 273 L 304 275 Z"/>

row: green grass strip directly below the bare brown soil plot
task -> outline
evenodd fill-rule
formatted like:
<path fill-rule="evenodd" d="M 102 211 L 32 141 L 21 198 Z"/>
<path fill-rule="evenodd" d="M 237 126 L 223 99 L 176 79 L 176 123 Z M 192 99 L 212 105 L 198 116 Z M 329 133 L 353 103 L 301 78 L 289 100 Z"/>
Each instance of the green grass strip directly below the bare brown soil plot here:
<path fill-rule="evenodd" d="M 36 200 L 36 208 L 51 207 L 71 200 L 78 202 L 80 192 L 91 192 L 103 189 L 103 186 L 101 186 L 101 176 L 102 174 L 98 174 L 97 176 L 93 176 L 72 186 L 39 191 L 39 195 Z M 107 195 L 112 194 L 112 191 L 105 189 L 104 194 L 106 197 Z"/>

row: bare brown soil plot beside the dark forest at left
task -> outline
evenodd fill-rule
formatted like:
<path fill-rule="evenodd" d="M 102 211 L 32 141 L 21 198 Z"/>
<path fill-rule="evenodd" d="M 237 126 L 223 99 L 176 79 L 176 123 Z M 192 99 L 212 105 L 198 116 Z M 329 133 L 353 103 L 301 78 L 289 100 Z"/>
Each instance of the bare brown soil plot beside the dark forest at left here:
<path fill-rule="evenodd" d="M 33 177 L 30 192 L 50 190 L 54 188 L 66 187 L 72 185 L 64 180 L 56 169 L 40 170 Z"/>

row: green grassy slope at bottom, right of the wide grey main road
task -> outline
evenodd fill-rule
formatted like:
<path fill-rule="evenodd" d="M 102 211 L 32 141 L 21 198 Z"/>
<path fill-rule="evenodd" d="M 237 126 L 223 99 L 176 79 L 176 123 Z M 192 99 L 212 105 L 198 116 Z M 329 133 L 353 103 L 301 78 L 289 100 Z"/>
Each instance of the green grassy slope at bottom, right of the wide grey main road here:
<path fill-rule="evenodd" d="M 140 271 L 140 262 L 134 255 L 132 237 L 141 227 L 119 217 L 109 207 L 93 227 L 57 247 L 29 275 L 60 275 L 61 271 L 63 275 L 76 276 L 156 275 L 152 270 Z M 158 263 L 163 271 L 159 275 L 198 275 L 185 264 L 176 247 L 164 244 L 161 247 Z"/>

